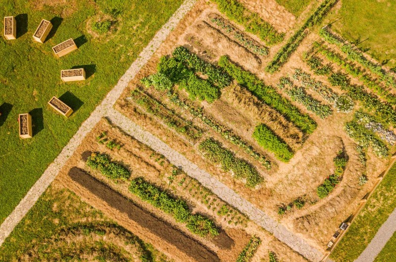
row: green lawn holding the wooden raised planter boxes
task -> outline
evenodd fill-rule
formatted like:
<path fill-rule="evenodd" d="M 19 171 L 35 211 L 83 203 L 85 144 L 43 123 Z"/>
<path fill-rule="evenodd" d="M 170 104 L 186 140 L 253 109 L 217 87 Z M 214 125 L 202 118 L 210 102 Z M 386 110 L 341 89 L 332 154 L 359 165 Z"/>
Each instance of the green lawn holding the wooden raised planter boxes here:
<path fill-rule="evenodd" d="M 16 16 L 18 34 L 0 40 L 0 223 L 181 3 L 72 0 L 36 8 L 40 1 L 0 0 L 1 17 Z M 104 16 L 117 21 L 115 31 L 94 38 L 87 22 Z M 54 24 L 45 44 L 32 38 L 42 18 Z M 79 49 L 55 58 L 51 47 L 69 38 Z M 80 66 L 86 81 L 62 83 L 60 70 Z M 70 118 L 49 107 L 53 95 L 74 110 Z M 34 136 L 22 140 L 17 118 L 28 112 Z"/>

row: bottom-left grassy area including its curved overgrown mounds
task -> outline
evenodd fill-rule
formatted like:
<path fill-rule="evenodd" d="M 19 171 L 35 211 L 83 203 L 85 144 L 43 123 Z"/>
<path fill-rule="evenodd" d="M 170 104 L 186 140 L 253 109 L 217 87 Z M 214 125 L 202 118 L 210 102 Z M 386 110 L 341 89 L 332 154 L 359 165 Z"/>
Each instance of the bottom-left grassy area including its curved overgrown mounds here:
<path fill-rule="evenodd" d="M 1 245 L 0 261 L 18 261 L 31 251 L 33 257 L 28 260 L 25 257 L 24 261 L 43 261 L 44 258 L 46 261 L 81 261 L 93 252 L 97 253 L 98 261 L 124 261 L 121 260 L 123 257 L 131 255 L 120 247 L 120 242 L 106 240 L 105 237 L 111 234 L 104 232 L 116 234 L 119 241 L 127 239 L 128 242 L 124 242 L 124 245 L 138 247 L 135 256 L 145 256 L 148 258 L 145 261 L 167 261 L 165 255 L 152 245 L 144 243 L 106 218 L 99 210 L 81 201 L 72 191 L 51 186 Z M 65 235 L 69 243 L 65 243 Z M 91 241 L 93 237 L 103 239 L 94 242 Z M 80 243 L 79 239 L 83 242 Z M 109 254 L 112 259 L 106 260 Z"/>

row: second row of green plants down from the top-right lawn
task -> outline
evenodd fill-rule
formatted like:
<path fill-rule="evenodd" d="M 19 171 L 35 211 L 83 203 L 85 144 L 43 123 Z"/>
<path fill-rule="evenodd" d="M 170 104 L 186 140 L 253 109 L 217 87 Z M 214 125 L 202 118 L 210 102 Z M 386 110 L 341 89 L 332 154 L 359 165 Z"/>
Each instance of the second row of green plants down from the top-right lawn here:
<path fill-rule="evenodd" d="M 323 44 L 314 42 L 313 46 L 318 52 L 326 56 L 327 59 L 344 68 L 349 75 L 356 77 L 360 81 L 362 81 L 366 87 L 368 87 L 370 90 L 375 92 L 378 96 L 382 97 L 383 99 L 385 99 L 386 101 L 388 101 L 393 105 L 396 104 L 396 96 L 394 94 L 391 94 L 387 90 L 387 87 L 381 85 L 380 83 L 378 83 L 378 81 L 372 79 L 362 68 L 354 65 L 348 59 L 342 57 L 340 54 L 336 53 L 335 51 L 330 50 L 327 46 Z M 323 75 L 328 75 L 328 74 L 329 72 Z"/>

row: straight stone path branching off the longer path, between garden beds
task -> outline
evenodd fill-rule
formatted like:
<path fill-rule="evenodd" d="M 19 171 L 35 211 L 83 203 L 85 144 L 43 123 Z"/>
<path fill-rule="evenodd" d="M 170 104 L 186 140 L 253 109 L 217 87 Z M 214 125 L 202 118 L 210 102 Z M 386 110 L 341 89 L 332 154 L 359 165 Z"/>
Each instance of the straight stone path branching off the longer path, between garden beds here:
<path fill-rule="evenodd" d="M 114 125 L 120 127 L 129 135 L 132 135 L 140 142 L 147 144 L 153 150 L 164 155 L 173 165 L 181 168 L 191 177 L 196 178 L 203 186 L 210 189 L 224 201 L 238 208 L 252 221 L 270 233 L 273 233 L 276 238 L 308 260 L 317 262 L 323 257 L 323 254 L 319 250 L 312 248 L 305 240 L 290 232 L 285 226 L 270 218 L 260 209 L 254 207 L 253 204 L 238 195 L 234 190 L 222 182 L 218 181 L 215 177 L 198 168 L 196 164 L 190 162 L 186 157 L 170 148 L 162 140 L 155 137 L 148 131 L 144 131 L 140 126 L 122 115 L 120 112 L 111 109 L 108 111 L 107 118 Z"/>

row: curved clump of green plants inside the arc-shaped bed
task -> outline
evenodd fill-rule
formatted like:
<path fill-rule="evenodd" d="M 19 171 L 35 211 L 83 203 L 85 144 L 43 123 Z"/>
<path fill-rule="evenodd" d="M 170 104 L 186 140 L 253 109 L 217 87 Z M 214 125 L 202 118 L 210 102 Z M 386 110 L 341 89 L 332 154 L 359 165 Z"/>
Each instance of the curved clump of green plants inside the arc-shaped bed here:
<path fill-rule="evenodd" d="M 334 187 L 340 182 L 340 177 L 344 175 L 344 171 L 347 166 L 345 151 L 341 150 L 333 159 L 333 162 L 336 168 L 334 174 L 327 177 L 323 184 L 319 185 L 316 189 L 316 194 L 321 199 L 325 198 L 331 193 L 331 191 L 333 191 Z"/>

